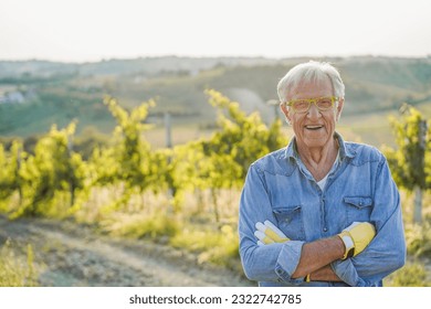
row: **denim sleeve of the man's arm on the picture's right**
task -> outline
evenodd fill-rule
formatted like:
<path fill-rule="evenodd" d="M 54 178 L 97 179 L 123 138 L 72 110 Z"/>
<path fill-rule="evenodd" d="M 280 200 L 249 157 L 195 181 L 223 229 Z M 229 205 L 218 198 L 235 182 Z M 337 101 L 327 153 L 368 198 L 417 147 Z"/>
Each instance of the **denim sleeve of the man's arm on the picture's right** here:
<path fill-rule="evenodd" d="M 375 205 L 370 216 L 376 236 L 356 257 L 334 262 L 337 276 L 350 286 L 376 286 L 406 263 L 406 239 L 401 202 L 386 159 L 375 180 Z"/>

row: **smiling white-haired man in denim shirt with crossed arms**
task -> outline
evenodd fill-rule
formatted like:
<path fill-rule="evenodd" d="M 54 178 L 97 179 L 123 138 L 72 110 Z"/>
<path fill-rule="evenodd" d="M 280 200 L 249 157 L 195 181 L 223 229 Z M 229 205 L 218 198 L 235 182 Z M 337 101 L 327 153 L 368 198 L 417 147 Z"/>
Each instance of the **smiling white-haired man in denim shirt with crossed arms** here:
<path fill-rule="evenodd" d="M 345 104 L 328 63 L 280 81 L 294 137 L 251 164 L 240 201 L 240 255 L 260 286 L 382 286 L 406 260 L 401 203 L 386 158 L 336 132 Z"/>

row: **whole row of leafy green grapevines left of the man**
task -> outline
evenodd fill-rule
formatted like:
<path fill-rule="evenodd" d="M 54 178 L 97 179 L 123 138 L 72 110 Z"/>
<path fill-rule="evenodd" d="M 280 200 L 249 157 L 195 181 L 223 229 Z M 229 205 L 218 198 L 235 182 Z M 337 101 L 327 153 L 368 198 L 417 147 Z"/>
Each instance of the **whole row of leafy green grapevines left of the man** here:
<path fill-rule="evenodd" d="M 250 163 L 286 140 L 280 120 L 267 128 L 257 113 L 246 115 L 238 103 L 216 90 L 207 95 L 219 113 L 216 134 L 174 149 L 153 150 L 143 137 L 154 100 L 127 110 L 111 97 L 105 105 L 117 124 L 114 138 L 111 143 L 95 147 L 87 161 L 72 149 L 75 122 L 62 130 L 53 126 L 36 140 L 34 153 L 20 150 L 18 143 L 10 152 L 1 148 L 4 175 L 0 185 L 7 188 L 3 194 L 19 191 L 20 195 L 20 206 L 12 217 L 71 215 L 82 207 L 92 188 L 116 188 L 119 194 L 101 209 L 102 216 L 127 209 L 133 196 L 148 190 L 169 192 L 167 210 L 176 213 L 181 211 L 187 192 L 210 191 L 213 217 L 219 222 L 220 190 L 239 189 Z M 70 204 L 69 209 L 61 205 L 64 203 Z"/>

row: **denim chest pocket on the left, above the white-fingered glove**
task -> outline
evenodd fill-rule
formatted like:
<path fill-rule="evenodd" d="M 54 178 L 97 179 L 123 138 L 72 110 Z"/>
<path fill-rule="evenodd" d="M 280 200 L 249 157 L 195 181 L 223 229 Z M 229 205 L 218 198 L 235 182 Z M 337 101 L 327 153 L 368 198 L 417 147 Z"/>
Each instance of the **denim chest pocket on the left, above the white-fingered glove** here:
<path fill-rule="evenodd" d="M 301 205 L 273 209 L 278 228 L 292 241 L 304 241 L 304 224 Z"/>

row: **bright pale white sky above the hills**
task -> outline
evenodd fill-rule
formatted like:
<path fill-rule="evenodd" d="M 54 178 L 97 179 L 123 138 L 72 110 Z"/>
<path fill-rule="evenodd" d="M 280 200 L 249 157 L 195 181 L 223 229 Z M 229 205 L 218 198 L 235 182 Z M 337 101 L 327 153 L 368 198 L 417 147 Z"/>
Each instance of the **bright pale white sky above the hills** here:
<path fill-rule="evenodd" d="M 431 55 L 429 0 L 0 0 L 0 60 Z"/>

